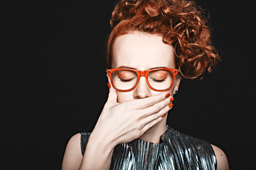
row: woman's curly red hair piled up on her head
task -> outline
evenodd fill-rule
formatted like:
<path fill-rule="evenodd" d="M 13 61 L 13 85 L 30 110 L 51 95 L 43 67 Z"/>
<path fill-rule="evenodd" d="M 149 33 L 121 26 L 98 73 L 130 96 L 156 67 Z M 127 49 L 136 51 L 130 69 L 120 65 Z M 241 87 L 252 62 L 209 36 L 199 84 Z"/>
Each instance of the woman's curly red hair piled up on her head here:
<path fill-rule="evenodd" d="M 107 42 L 107 64 L 112 66 L 114 40 L 133 31 L 160 35 L 173 45 L 176 68 L 187 79 L 203 78 L 220 60 L 210 41 L 201 8 L 185 0 L 119 0 L 112 12 L 113 28 Z"/>

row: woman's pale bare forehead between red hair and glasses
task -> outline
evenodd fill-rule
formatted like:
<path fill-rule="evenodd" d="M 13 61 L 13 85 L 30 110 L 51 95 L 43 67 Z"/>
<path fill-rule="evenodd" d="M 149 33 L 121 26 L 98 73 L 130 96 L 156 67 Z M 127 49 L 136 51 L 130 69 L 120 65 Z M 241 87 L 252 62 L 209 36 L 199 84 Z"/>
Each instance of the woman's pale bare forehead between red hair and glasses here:
<path fill-rule="evenodd" d="M 159 35 L 129 33 L 119 36 L 113 46 L 112 67 L 175 68 L 174 47 L 162 42 Z"/>

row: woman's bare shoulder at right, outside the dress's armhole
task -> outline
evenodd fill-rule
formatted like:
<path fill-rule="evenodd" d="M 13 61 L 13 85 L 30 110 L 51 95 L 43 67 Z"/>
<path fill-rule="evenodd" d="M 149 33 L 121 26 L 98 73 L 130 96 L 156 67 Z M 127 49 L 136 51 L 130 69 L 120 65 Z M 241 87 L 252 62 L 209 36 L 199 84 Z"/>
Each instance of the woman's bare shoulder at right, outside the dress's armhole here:
<path fill-rule="evenodd" d="M 213 147 L 216 159 L 217 159 L 217 170 L 228 170 L 228 158 L 223 152 L 222 149 L 216 147 L 215 145 L 211 145 Z"/>

